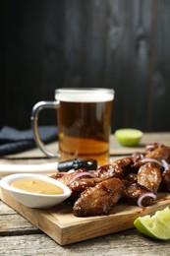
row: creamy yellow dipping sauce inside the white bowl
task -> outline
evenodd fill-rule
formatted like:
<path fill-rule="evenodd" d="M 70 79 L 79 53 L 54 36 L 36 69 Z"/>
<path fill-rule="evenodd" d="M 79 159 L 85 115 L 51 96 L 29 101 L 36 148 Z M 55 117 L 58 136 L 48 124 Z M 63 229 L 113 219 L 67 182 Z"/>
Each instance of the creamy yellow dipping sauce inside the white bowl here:
<path fill-rule="evenodd" d="M 14 181 L 11 186 L 37 194 L 56 195 L 64 193 L 61 187 L 40 179 L 21 179 Z"/>

